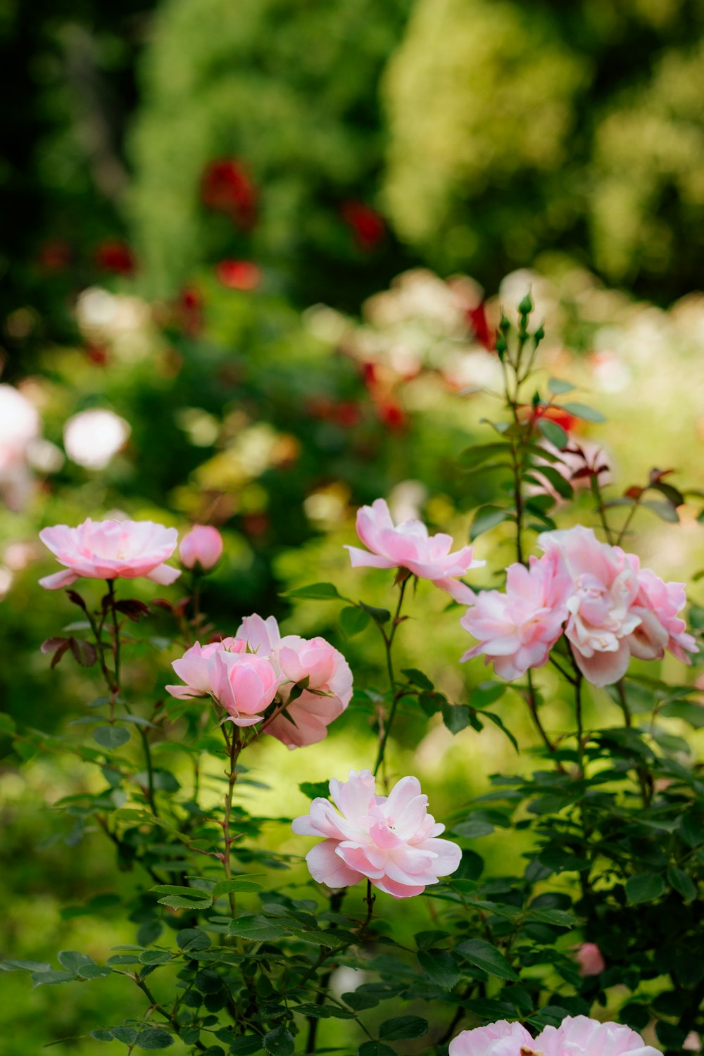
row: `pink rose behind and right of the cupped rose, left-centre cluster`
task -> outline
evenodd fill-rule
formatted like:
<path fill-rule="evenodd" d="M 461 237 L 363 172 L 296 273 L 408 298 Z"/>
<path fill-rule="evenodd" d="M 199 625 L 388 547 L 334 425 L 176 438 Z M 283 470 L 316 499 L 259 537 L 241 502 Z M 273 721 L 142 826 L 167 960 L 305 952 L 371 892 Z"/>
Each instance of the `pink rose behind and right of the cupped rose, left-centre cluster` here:
<path fill-rule="evenodd" d="M 279 695 L 286 708 L 266 723 L 265 732 L 288 748 L 305 748 L 322 740 L 329 723 L 342 715 L 351 699 L 351 672 L 342 653 L 324 638 L 282 638 L 272 616 L 266 620 L 246 617 L 237 638 L 245 639 L 250 653 L 266 657 L 282 676 Z M 290 700 L 293 685 L 306 678 L 307 687 Z"/>

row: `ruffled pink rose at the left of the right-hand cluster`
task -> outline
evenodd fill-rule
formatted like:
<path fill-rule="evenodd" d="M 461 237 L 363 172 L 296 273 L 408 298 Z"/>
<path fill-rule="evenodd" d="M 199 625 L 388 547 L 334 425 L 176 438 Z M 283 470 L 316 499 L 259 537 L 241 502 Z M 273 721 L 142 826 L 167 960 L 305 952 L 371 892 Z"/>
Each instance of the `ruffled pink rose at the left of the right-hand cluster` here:
<path fill-rule="evenodd" d="M 568 617 L 569 577 L 553 558 L 530 559 L 530 568 L 510 565 L 506 593 L 482 590 L 459 621 L 479 644 L 461 660 L 486 656 L 501 678 L 513 681 L 529 667 L 544 667 Z"/>

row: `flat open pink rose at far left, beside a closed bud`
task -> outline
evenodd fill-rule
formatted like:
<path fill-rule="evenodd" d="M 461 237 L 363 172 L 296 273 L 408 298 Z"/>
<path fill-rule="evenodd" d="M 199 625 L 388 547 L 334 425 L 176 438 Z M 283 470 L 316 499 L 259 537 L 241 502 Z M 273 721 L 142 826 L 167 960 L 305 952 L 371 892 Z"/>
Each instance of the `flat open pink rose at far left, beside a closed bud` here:
<path fill-rule="evenodd" d="M 77 528 L 54 525 L 39 539 L 65 569 L 39 580 L 42 587 L 58 590 L 79 577 L 91 580 L 134 580 L 144 576 L 163 586 L 180 576 L 164 562 L 176 548 L 178 533 L 151 521 L 84 521 Z"/>

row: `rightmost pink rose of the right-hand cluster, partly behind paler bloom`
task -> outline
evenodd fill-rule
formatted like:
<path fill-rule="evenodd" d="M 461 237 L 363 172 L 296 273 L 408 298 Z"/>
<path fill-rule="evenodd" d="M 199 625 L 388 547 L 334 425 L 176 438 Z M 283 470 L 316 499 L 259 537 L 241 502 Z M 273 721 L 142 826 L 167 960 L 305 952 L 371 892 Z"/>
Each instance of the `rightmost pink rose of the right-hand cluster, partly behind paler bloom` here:
<path fill-rule="evenodd" d="M 631 654 L 641 660 L 661 660 L 669 649 L 678 660 L 691 663 L 684 652 L 699 653 L 687 624 L 678 616 L 687 604 L 685 583 L 665 583 L 642 568 L 638 573 L 639 593 L 631 611 L 641 618 L 629 639 Z"/>

